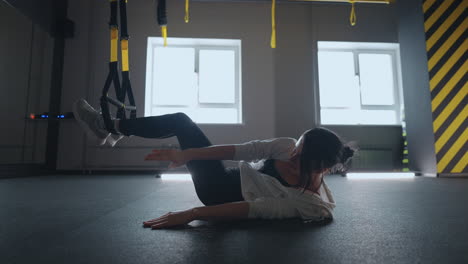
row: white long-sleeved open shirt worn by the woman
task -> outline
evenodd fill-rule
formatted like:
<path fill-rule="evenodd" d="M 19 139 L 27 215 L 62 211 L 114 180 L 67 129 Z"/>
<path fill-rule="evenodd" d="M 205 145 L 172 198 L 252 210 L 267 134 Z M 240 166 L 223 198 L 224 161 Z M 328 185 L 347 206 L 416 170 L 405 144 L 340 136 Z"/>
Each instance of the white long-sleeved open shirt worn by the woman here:
<path fill-rule="evenodd" d="M 301 188 L 283 186 L 275 178 L 258 171 L 267 159 L 288 160 L 297 140 L 273 138 L 235 144 L 234 160 L 239 163 L 242 196 L 249 203 L 249 218 L 282 219 L 300 217 L 304 221 L 333 218 L 335 200 L 325 181 L 320 195 Z"/>

